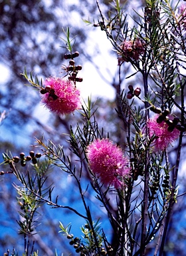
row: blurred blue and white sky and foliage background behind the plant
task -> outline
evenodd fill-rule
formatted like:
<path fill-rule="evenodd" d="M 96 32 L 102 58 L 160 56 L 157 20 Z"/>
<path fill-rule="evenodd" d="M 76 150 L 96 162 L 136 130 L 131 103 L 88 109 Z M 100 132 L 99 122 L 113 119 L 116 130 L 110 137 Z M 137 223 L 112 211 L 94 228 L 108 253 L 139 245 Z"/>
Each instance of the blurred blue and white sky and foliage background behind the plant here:
<path fill-rule="evenodd" d="M 120 1 L 131 15 L 130 25 L 133 24 L 133 19 L 139 19 L 133 9 L 142 13 L 144 2 Z M 100 0 L 104 14 L 108 10 L 114 11 L 110 3 L 113 4 L 109 0 Z M 75 127 L 77 121 L 81 122 L 80 115 L 51 115 L 41 105 L 38 91 L 25 86 L 27 81 L 20 75 L 25 67 L 28 74 L 33 72 L 33 76 L 37 75 L 39 79 L 50 75 L 64 75 L 61 73 L 61 66 L 68 65 L 68 61 L 64 59 L 66 49 L 61 38 L 65 39 L 62 28 L 66 30 L 67 26 L 71 28 L 71 37 L 76 36 L 74 51 L 80 53 L 76 64 L 82 65 L 80 76 L 83 77 L 83 82 L 78 84 L 82 98 L 86 102 L 88 96 L 92 95 L 92 100 L 97 100 L 96 106 L 99 108 L 96 117 L 100 127 L 109 131 L 116 143 L 125 143 L 126 135 L 120 129 L 120 119 L 114 109 L 118 85 L 117 54 L 99 27 L 86 25 L 83 21 L 90 19 L 97 24 L 99 16 L 96 1 L 93 0 L 0 0 L 1 153 L 8 149 L 13 155 L 19 155 L 21 151 L 28 154 L 33 149 L 31 145 L 35 143 L 34 137 L 40 138 L 44 134 L 45 139 L 63 145 L 66 153 L 70 154 L 65 133 L 68 134 L 70 125 Z M 122 89 L 127 89 L 129 84 L 135 87 L 140 84 L 140 75 L 125 80 L 131 73 L 130 64 L 125 63 L 122 67 Z M 1 165 L 1 170 L 3 168 L 6 167 Z M 85 187 L 88 179 L 84 174 Z M 185 191 L 183 171 L 180 179 L 181 191 Z M 23 236 L 18 234 L 17 220 L 20 217 L 17 211 L 20 207 L 16 200 L 17 192 L 12 185 L 14 182 L 16 181 L 12 175 L 0 177 L 0 255 L 7 249 L 11 251 L 15 248 L 20 255 L 24 250 Z M 71 177 L 55 169 L 49 175 L 48 184 L 50 183 L 55 187 L 54 196 L 58 195 L 63 204 L 81 209 L 76 185 Z M 92 191 L 88 195 L 88 201 L 95 220 L 100 217 L 107 237 L 112 239 L 106 211 L 96 205 Z M 184 197 L 180 197 L 170 222 L 164 255 L 185 255 L 185 213 Z M 68 244 L 66 237 L 58 234 L 59 221 L 64 225 L 72 223 L 71 232 L 75 236 L 81 235 L 80 226 L 84 225 L 82 219 L 65 209 L 50 209 L 48 205 L 43 205 L 39 213 L 41 225 L 37 227 L 38 233 L 34 237 L 35 250 L 39 250 L 39 255 L 54 255 L 55 249 L 58 255 L 74 255 L 74 249 Z M 150 249 L 148 255 L 151 255 Z"/>

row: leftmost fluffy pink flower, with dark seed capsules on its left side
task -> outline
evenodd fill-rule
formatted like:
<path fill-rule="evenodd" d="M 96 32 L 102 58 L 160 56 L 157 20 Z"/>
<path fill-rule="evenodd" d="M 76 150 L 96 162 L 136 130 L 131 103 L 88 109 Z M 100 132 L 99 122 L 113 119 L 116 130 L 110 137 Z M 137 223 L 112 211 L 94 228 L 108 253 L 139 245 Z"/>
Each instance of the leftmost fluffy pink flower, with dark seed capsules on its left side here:
<path fill-rule="evenodd" d="M 45 94 L 41 95 L 41 102 L 58 115 L 65 115 L 79 109 L 80 91 L 72 81 L 61 77 L 48 77 L 45 80 Z"/>

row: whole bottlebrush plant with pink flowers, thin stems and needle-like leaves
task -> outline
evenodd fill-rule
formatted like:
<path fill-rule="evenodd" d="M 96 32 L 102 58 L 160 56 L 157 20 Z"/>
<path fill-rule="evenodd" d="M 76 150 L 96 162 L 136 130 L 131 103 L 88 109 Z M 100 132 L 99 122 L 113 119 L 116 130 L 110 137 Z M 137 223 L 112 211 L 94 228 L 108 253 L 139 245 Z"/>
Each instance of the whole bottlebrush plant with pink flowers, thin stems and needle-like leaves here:
<path fill-rule="evenodd" d="M 94 27 L 106 33 L 118 58 L 118 85 L 116 86 L 116 112 L 122 120 L 125 143 L 118 144 L 109 136 L 107 127 L 96 120 L 94 104 L 80 98 L 77 83 L 82 69 L 76 65 L 79 53 L 72 51 L 70 30 L 66 31 L 68 53 L 62 65 L 63 77 L 48 77 L 45 82 L 33 80 L 33 75 L 22 74 L 32 87 L 41 93 L 41 103 L 52 113 L 76 117 L 81 123 L 70 127 L 69 148 L 73 157 L 66 155 L 63 145 L 51 140 L 36 139 L 39 153 L 24 153 L 13 157 L 4 153 L 4 163 L 9 164 L 21 185 L 14 185 L 19 193 L 17 200 L 23 211 L 19 221 L 26 239 L 37 231 L 37 209 L 47 203 L 50 207 L 65 208 L 84 219 L 82 237 L 70 233 L 70 224 L 60 222 L 60 233 L 69 239 L 74 251 L 80 255 L 163 255 L 165 239 L 173 206 L 177 203 L 177 175 L 181 145 L 186 131 L 185 122 L 185 13 L 186 5 L 171 1 L 146 0 L 143 15 L 138 15 L 132 28 L 120 1 L 114 1 L 108 17 L 96 1 L 100 18 Z M 90 23 L 90 21 L 88 21 Z M 75 60 L 74 60 L 75 59 Z M 135 69 L 125 79 L 126 65 Z M 140 81 L 140 84 L 137 82 Z M 114 120 L 113 120 L 114 123 Z M 106 131 L 105 131 L 106 130 Z M 170 161 L 169 149 L 175 158 Z M 38 161 L 40 157 L 45 161 Z M 76 161 L 74 161 L 76 159 Z M 27 173 L 17 169 L 32 161 Z M 80 194 L 83 210 L 58 203 L 52 196 L 53 188 L 45 185 L 47 170 L 54 165 L 70 175 Z M 88 185 L 84 189 L 84 173 Z M 106 210 L 113 233 L 110 241 L 99 219 L 94 219 L 86 194 L 93 189 L 96 200 Z M 28 240 L 27 240 L 28 241 Z M 32 245 L 33 246 L 33 245 Z M 29 242 L 25 247 L 28 255 Z M 33 248 L 33 247 L 32 247 Z M 33 253 L 33 249 L 31 249 Z"/>

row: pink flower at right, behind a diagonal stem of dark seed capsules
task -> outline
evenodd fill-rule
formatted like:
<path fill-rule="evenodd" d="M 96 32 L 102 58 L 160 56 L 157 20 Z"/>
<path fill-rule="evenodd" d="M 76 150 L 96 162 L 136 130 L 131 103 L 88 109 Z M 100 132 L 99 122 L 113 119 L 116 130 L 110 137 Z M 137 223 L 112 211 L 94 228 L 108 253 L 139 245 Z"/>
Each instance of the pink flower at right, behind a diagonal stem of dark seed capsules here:
<path fill-rule="evenodd" d="M 168 131 L 169 127 L 165 121 L 161 123 L 157 123 L 157 117 L 159 115 L 155 115 L 152 119 L 147 121 L 147 127 L 149 128 L 149 136 L 152 137 L 155 135 L 155 149 L 156 150 L 165 150 L 169 143 L 172 143 L 179 137 L 179 131 L 177 129 L 173 129 L 173 131 Z"/>

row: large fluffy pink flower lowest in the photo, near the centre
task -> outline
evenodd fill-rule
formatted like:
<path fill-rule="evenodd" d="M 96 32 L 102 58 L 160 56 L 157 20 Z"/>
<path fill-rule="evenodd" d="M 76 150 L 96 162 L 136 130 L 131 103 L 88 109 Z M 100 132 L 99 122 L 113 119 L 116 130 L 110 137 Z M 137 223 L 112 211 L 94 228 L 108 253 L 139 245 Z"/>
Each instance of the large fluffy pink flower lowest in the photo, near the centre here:
<path fill-rule="evenodd" d="M 122 149 L 109 139 L 96 139 L 87 149 L 90 169 L 105 185 L 115 188 L 125 186 L 124 179 L 130 177 L 129 161 Z"/>

